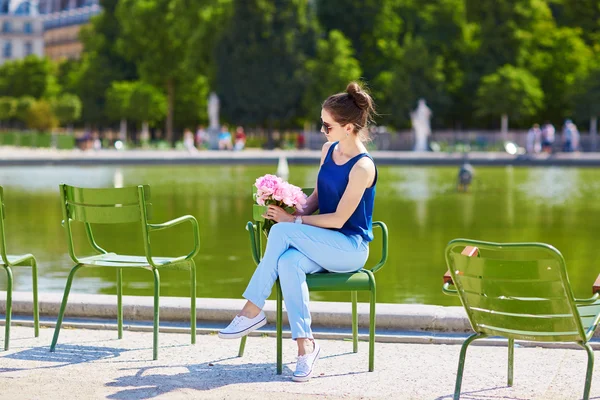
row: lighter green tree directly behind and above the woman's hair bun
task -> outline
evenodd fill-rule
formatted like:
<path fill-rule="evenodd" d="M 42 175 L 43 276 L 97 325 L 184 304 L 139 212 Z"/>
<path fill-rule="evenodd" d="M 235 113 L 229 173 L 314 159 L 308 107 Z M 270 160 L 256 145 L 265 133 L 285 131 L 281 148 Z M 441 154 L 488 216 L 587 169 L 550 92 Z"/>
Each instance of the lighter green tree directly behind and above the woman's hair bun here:
<path fill-rule="evenodd" d="M 326 39 L 317 41 L 317 54 L 306 62 L 305 68 L 303 101 L 311 120 L 318 119 L 327 96 L 343 91 L 350 81 L 362 75 L 352 44 L 338 30 L 330 31 Z"/>

